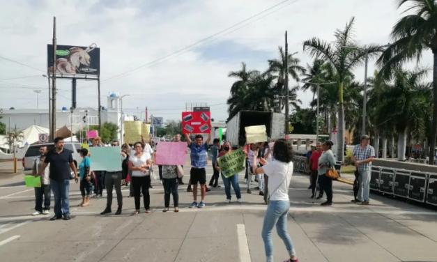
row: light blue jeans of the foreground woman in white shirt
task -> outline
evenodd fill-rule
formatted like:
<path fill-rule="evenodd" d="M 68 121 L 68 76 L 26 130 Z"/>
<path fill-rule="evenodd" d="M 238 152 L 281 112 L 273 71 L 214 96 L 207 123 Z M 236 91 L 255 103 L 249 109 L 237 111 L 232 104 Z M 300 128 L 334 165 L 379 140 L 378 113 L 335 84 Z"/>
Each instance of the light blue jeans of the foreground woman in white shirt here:
<path fill-rule="evenodd" d="M 284 241 L 289 256 L 296 256 L 293 241 L 291 241 L 289 233 L 286 231 L 286 216 L 289 213 L 289 208 L 289 201 L 272 200 L 268 203 L 266 215 L 264 216 L 263 230 L 261 232 L 264 241 L 264 249 L 266 249 L 267 262 L 273 261 L 272 231 L 275 225 L 277 235 L 282 239 L 282 241 Z"/>

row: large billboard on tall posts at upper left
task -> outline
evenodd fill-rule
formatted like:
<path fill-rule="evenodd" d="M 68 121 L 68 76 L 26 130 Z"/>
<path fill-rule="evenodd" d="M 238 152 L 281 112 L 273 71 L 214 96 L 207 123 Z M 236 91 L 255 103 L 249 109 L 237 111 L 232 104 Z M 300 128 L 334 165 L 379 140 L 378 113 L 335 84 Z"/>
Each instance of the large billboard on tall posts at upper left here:
<path fill-rule="evenodd" d="M 53 45 L 47 45 L 47 65 L 53 69 Z M 56 45 L 56 74 L 100 75 L 100 48 Z"/>

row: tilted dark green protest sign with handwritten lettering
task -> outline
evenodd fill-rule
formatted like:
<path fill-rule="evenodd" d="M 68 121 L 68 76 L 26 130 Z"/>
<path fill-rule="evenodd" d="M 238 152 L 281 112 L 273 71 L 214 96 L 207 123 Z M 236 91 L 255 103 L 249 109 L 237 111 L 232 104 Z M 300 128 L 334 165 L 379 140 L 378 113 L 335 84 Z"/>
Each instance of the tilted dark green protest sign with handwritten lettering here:
<path fill-rule="evenodd" d="M 243 148 L 238 148 L 236 151 L 222 155 L 217 159 L 223 176 L 229 178 L 238 172 L 246 169 L 246 153 Z"/>

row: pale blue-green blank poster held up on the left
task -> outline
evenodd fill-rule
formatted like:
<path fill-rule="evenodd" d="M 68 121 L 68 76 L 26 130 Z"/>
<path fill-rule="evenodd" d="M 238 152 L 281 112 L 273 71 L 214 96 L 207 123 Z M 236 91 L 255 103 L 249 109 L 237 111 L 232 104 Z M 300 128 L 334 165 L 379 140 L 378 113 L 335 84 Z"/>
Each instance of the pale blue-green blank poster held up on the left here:
<path fill-rule="evenodd" d="M 91 147 L 91 171 L 121 170 L 120 146 Z"/>

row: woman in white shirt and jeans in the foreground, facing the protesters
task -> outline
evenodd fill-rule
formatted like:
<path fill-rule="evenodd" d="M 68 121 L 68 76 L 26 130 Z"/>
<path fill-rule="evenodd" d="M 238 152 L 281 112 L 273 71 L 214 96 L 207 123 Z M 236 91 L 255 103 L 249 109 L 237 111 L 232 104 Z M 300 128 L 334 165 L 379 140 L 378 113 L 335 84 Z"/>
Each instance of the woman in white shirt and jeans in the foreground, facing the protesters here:
<path fill-rule="evenodd" d="M 258 155 L 256 151 L 255 155 Z M 267 162 L 261 158 L 263 167 L 256 167 L 256 157 L 252 163 L 254 174 L 266 174 L 268 176 L 268 192 L 270 202 L 264 216 L 263 230 L 261 236 L 266 249 L 266 262 L 273 262 L 273 241 L 272 231 L 276 226 L 279 238 L 284 241 L 285 247 L 289 252 L 289 260 L 284 262 L 296 262 L 298 257 L 293 247 L 289 233 L 286 229 L 286 217 L 289 213 L 289 185 L 293 175 L 293 147 L 290 141 L 278 139 L 273 146 L 273 157 L 275 161 Z"/>

